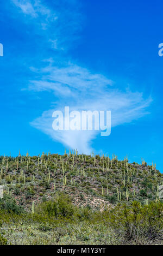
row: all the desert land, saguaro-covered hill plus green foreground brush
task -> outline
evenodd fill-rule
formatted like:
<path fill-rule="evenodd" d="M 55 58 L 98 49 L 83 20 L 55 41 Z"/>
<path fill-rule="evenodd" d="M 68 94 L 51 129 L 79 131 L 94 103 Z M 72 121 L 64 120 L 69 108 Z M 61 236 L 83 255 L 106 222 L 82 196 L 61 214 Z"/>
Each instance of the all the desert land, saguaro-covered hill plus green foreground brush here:
<path fill-rule="evenodd" d="M 162 244 L 162 174 L 128 157 L 0 157 L 3 245 Z"/>

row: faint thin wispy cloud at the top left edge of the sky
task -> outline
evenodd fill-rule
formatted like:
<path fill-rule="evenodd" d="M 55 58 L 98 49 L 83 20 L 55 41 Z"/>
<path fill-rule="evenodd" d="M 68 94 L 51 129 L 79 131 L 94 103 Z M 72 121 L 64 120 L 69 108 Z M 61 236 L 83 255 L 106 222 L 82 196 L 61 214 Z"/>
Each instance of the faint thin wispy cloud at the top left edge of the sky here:
<path fill-rule="evenodd" d="M 35 34 L 42 36 L 43 50 L 51 47 L 64 51 L 77 39 L 82 18 L 76 0 L 10 0 L 24 14 L 24 22 L 32 26 Z M 51 7 L 53 6 L 53 8 Z M 22 17 L 22 16 L 21 16 Z"/>

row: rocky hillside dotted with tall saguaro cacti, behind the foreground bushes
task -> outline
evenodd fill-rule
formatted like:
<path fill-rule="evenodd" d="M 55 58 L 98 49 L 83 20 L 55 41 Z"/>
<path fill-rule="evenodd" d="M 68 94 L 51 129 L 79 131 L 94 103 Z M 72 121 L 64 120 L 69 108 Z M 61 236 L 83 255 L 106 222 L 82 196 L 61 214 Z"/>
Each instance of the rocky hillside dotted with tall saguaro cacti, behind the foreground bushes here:
<path fill-rule="evenodd" d="M 3 193 L 12 195 L 19 205 L 31 211 L 32 204 L 55 197 L 58 191 L 70 195 L 76 206 L 95 210 L 114 207 L 124 201 L 159 201 L 163 175 L 155 165 L 129 163 L 114 154 L 87 156 L 77 151 L 64 155 L 0 158 L 0 185 Z"/>

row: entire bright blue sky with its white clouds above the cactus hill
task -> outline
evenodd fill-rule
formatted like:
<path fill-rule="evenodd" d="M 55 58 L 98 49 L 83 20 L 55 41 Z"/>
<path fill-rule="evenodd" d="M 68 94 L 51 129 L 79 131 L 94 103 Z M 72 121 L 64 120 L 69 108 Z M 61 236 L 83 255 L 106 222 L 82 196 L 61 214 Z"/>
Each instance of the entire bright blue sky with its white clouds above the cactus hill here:
<path fill-rule="evenodd" d="M 162 1 L 0 3 L 1 147 L 126 154 L 162 172 Z M 52 112 L 111 110 L 111 135 L 52 129 Z"/>

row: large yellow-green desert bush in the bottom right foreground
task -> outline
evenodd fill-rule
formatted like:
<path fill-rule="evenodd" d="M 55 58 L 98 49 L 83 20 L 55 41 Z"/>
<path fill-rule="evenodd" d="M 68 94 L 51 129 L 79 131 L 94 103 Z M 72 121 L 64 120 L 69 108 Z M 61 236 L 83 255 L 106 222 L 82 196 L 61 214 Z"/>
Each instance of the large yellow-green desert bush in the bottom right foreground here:
<path fill-rule="evenodd" d="M 162 210 L 162 203 L 141 206 L 135 201 L 131 206 L 124 204 L 112 210 L 109 222 L 122 244 L 160 243 L 163 240 Z"/>

